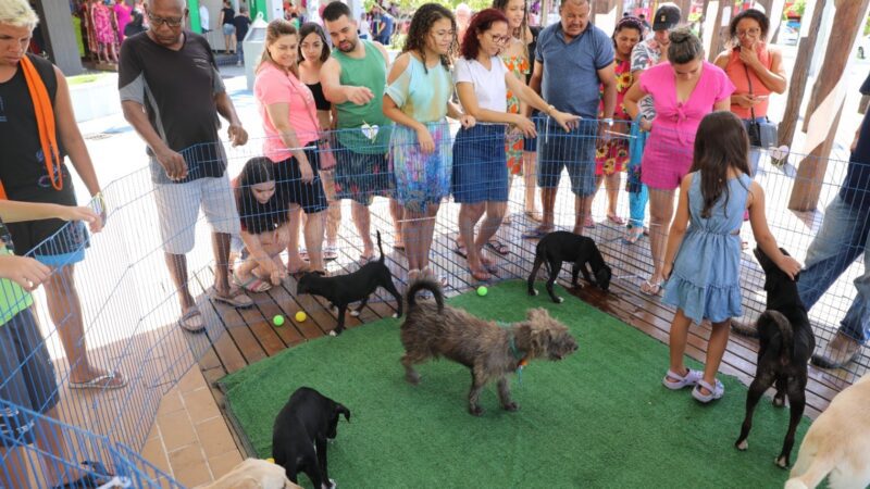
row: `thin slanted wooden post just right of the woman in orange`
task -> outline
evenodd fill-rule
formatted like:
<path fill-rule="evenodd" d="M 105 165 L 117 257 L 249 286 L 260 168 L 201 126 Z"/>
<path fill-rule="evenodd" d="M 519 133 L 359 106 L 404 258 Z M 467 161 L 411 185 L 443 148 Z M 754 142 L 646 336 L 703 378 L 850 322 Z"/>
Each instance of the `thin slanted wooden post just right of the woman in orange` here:
<path fill-rule="evenodd" d="M 792 70 L 792 79 L 788 82 L 788 99 L 785 102 L 785 112 L 780 122 L 779 128 L 779 142 L 780 146 L 792 147 L 797 130 L 797 118 L 800 116 L 800 105 L 804 102 L 804 92 L 807 87 L 807 78 L 809 77 L 809 65 L 812 61 L 812 54 L 816 52 L 817 35 L 822 25 L 822 12 L 825 9 L 828 0 L 818 0 L 812 4 L 807 5 L 807 10 L 812 9 L 810 18 L 806 12 L 801 22 L 808 22 L 806 26 L 800 26 L 800 41 L 797 45 L 797 59 L 795 66 Z"/>

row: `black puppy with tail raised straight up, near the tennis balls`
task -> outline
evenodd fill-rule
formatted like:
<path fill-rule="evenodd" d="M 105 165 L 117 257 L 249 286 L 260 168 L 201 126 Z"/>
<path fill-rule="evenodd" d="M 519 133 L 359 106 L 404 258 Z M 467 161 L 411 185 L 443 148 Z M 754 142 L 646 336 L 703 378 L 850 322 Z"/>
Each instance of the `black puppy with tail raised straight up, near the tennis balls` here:
<path fill-rule="evenodd" d="M 338 309 L 338 326 L 330 331 L 330 335 L 337 336 L 345 330 L 345 312 L 348 304 L 351 302 L 360 302 L 360 306 L 356 311 L 351 311 L 350 315 L 359 316 L 360 311 L 365 308 L 369 302 L 369 296 L 374 293 L 377 287 L 387 289 L 396 298 L 399 304 L 398 312 L 393 317 L 401 316 L 402 301 L 401 294 L 396 290 L 393 284 L 393 274 L 389 268 L 384 264 L 384 249 L 381 248 L 381 231 L 377 231 L 377 249 L 381 250 L 381 260 L 376 262 L 369 262 L 360 267 L 360 269 L 347 274 L 337 275 L 334 277 L 324 277 L 320 274 L 308 273 L 302 275 L 299 284 L 296 287 L 296 293 L 311 293 L 321 296 L 330 301 L 333 308 Z"/>

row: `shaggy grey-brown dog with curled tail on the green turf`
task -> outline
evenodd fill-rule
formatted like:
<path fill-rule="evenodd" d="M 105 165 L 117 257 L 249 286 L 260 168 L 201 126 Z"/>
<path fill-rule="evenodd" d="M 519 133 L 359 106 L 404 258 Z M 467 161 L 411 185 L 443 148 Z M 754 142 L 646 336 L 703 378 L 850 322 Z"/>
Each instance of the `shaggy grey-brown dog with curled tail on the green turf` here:
<path fill-rule="evenodd" d="M 435 301 L 417 301 L 421 290 L 431 291 Z M 510 399 L 507 375 L 517 372 L 535 359 L 562 360 L 577 349 L 568 328 L 550 317 L 547 310 L 529 310 L 525 321 L 499 327 L 494 321 L 483 321 L 461 309 L 444 305 L 444 294 L 437 283 L 415 281 L 408 289 L 408 313 L 401 325 L 406 378 L 420 383 L 413 365 L 430 358 L 444 356 L 471 369 L 469 412 L 483 414 L 477 400 L 483 387 L 498 380 L 498 398 L 507 411 L 519 405 Z"/>

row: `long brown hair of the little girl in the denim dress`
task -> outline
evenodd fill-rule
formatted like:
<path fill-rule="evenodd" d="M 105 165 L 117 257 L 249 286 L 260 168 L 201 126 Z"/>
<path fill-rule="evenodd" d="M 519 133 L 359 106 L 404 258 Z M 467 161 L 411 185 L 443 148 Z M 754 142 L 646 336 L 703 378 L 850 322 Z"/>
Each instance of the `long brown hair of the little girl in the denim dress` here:
<path fill-rule="evenodd" d="M 743 122 L 730 111 L 707 114 L 695 135 L 692 172 L 700 172 L 700 193 L 704 208 L 700 216 L 709 218 L 716 202 L 725 195 L 728 205 L 728 170 L 750 174 L 749 137 Z M 697 175 L 696 175 L 697 177 Z"/>

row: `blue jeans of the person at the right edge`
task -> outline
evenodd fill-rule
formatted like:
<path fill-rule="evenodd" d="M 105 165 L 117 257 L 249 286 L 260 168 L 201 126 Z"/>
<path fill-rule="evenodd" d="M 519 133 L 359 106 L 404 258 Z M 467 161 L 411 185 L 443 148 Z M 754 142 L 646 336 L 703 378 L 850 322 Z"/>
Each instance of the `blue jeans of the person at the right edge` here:
<path fill-rule="evenodd" d="M 870 250 L 867 249 L 870 213 L 853 209 L 836 196 L 824 212 L 822 228 L 807 250 L 806 268 L 797 291 L 807 310 L 863 253 L 863 275 L 855 279 L 858 293 L 841 321 L 840 333 L 866 343 L 870 338 Z"/>

